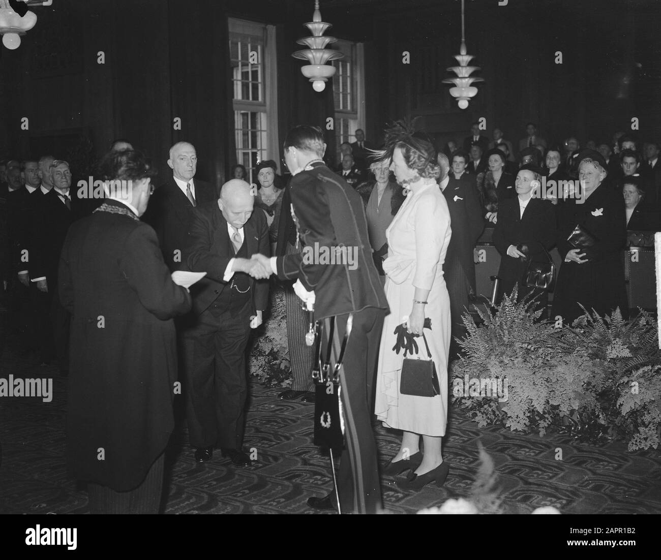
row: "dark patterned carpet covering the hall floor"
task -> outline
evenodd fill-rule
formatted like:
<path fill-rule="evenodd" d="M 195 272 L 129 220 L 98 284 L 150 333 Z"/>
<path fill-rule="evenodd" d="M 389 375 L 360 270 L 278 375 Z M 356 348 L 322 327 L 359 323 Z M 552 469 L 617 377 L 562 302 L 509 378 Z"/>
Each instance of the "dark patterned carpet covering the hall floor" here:
<path fill-rule="evenodd" d="M 21 355 L 15 337 L 2 331 L 0 377 L 52 377 L 54 398 L 50 403 L 0 398 L 0 512 L 87 513 L 84 487 L 67 479 L 63 460 L 66 381 L 56 368 L 40 367 L 34 355 Z M 305 500 L 329 491 L 329 458 L 312 442 L 312 405 L 281 401 L 278 392 L 251 386 L 245 445 L 256 451 L 252 468 L 234 468 L 216 454 L 196 464 L 186 430 L 176 431 L 167 452 L 166 514 L 313 513 Z M 375 431 L 385 462 L 398 448 L 398 434 L 380 425 Z M 467 497 L 479 466 L 479 441 L 494 460 L 506 513 L 548 505 L 563 514 L 661 512 L 658 451 L 628 453 L 619 443 L 594 447 L 562 437 L 480 429 L 457 411 L 451 411 L 444 441 L 451 465 L 444 487 L 401 491 L 395 479 L 384 477 L 387 511 L 413 513 Z M 562 460 L 556 460 L 557 448 Z"/>

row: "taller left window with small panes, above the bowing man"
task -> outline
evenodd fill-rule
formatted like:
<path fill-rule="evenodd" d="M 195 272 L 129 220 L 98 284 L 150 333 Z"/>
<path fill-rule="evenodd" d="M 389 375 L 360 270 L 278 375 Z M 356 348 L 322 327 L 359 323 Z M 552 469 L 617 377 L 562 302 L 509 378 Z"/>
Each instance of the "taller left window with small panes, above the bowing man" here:
<path fill-rule="evenodd" d="M 248 180 L 264 159 L 280 160 L 277 139 L 275 27 L 229 19 L 229 56 L 234 92 L 236 163 Z M 266 69 L 270 68 L 270 71 Z M 234 162 L 231 163 L 231 166 Z"/>

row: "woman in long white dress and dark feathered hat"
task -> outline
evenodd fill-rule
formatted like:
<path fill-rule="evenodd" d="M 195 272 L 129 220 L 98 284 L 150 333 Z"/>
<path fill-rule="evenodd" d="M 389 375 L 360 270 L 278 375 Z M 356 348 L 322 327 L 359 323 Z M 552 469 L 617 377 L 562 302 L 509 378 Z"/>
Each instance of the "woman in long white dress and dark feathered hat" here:
<path fill-rule="evenodd" d="M 450 343 L 450 307 L 443 262 L 450 240 L 446 199 L 436 184 L 440 167 L 431 143 L 408 133 L 397 123 L 386 135 L 384 158 L 391 160 L 397 182 L 408 190 L 407 199 L 386 230 L 388 256 L 383 262 L 385 293 L 390 306 L 381 335 L 375 413 L 386 427 L 404 432 L 399 452 L 384 469 L 397 475 L 412 470 L 400 487 L 420 489 L 431 481 L 442 485 L 449 469 L 441 452 L 447 425 L 447 356 Z M 401 394 L 403 351 L 395 353 L 394 331 L 408 318 L 408 332 L 425 329 L 440 395 L 419 397 Z M 422 338 L 416 340 L 421 359 L 427 359 Z M 415 356 L 414 356 L 415 357 Z M 424 455 L 420 452 L 420 436 Z"/>

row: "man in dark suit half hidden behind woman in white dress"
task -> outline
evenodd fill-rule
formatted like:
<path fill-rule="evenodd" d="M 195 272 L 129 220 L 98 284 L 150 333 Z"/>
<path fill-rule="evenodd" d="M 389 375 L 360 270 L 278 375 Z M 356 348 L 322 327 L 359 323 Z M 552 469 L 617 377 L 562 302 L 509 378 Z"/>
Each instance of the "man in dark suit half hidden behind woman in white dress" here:
<path fill-rule="evenodd" d="M 441 166 L 439 186 L 446 197 L 452 227 L 452 236 L 443 264 L 447 292 L 450 295 L 452 359 L 459 355 L 455 337 L 461 338 L 466 334 L 461 316 L 468 308 L 471 296 L 476 293 L 473 250 L 485 226 L 475 186 L 465 178 L 465 174 L 455 179 L 453 174 L 449 173 L 449 160 L 445 154 L 438 154 L 438 164 Z"/>

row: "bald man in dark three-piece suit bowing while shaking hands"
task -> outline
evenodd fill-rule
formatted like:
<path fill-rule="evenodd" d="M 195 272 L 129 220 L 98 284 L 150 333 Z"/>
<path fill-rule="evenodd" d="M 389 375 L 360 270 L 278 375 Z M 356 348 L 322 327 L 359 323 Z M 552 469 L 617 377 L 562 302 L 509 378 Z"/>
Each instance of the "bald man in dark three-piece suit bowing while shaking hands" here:
<path fill-rule="evenodd" d="M 198 462 L 218 446 L 233 464 L 251 464 L 243 451 L 245 353 L 266 309 L 269 274 L 251 256 L 270 254 L 266 217 L 253 205 L 251 186 L 233 179 L 217 202 L 196 208 L 190 225 L 188 267 L 208 279 L 191 287 L 196 321 L 184 334 L 186 418 Z"/>

